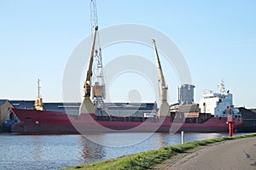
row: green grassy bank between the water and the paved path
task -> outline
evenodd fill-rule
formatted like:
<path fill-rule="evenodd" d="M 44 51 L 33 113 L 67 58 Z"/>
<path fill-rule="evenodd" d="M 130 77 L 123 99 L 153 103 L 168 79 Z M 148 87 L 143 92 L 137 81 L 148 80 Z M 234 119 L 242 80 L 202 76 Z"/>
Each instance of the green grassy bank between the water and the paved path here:
<path fill-rule="evenodd" d="M 224 140 L 242 139 L 250 137 L 256 137 L 256 133 L 235 136 L 232 138 L 222 137 L 216 139 L 205 139 L 187 142 L 185 144 L 166 146 L 160 148 L 159 150 L 149 150 L 134 155 L 121 156 L 107 161 L 96 161 L 86 163 L 80 166 L 68 167 L 67 169 L 150 169 L 154 165 L 159 164 L 162 161 L 166 161 L 167 159 L 172 158 L 172 156 L 176 156 L 177 154 L 184 153 L 188 150 L 196 149 L 207 144 L 222 142 Z"/>

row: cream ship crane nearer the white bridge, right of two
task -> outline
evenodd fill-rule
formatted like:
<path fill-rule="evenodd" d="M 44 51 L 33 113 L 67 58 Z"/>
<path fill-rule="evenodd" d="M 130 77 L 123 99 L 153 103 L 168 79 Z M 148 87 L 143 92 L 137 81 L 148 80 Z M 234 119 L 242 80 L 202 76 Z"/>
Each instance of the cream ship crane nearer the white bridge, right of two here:
<path fill-rule="evenodd" d="M 170 112 L 170 106 L 167 102 L 168 87 L 166 86 L 165 77 L 161 68 L 158 51 L 155 45 L 155 40 L 153 39 L 152 41 L 154 44 L 154 56 L 155 56 L 155 62 L 156 62 L 157 71 L 158 71 L 158 82 L 159 82 L 160 109 L 158 111 L 158 117 L 168 116 Z"/>

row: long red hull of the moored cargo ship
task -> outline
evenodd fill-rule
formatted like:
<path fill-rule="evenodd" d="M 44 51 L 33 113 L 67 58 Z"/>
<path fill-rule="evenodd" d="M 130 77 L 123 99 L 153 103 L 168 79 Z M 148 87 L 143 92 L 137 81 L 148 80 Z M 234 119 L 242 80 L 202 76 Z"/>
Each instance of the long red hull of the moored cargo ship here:
<path fill-rule="evenodd" d="M 131 120 L 98 121 L 95 114 L 70 116 L 55 111 L 12 109 L 20 122 L 12 126 L 14 133 L 124 133 L 124 132 L 168 132 L 195 133 L 228 132 L 226 120 L 212 117 L 203 123 L 171 122 L 170 116 L 160 116 L 157 122 L 131 122 Z M 236 120 L 234 129 L 242 126 Z"/>

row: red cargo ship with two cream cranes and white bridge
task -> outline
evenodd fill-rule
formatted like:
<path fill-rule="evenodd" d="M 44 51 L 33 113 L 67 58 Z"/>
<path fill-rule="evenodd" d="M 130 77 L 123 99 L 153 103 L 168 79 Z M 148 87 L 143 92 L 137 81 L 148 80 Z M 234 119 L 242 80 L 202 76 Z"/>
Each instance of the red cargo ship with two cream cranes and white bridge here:
<path fill-rule="evenodd" d="M 94 2 L 94 1 L 92 1 Z M 12 108 L 19 122 L 11 127 L 14 133 L 104 133 L 104 132 L 168 132 L 179 131 L 197 133 L 228 132 L 227 117 L 234 119 L 234 128 L 241 127 L 239 113 L 232 109 L 232 95 L 229 92 L 210 93 L 200 104 L 194 104 L 189 92 L 193 85 L 185 84 L 179 93 L 178 105 L 167 102 L 167 85 L 160 65 L 160 58 L 154 45 L 154 56 L 158 72 L 159 108 L 143 109 L 144 104 L 106 105 L 105 84 L 102 74 L 101 48 L 96 47 L 99 33 L 96 17 L 96 3 L 92 3 L 92 29 L 94 31 L 87 74 L 84 81 L 83 99 L 79 112 L 45 111 L 39 94 L 34 109 Z M 100 43 L 97 43 L 100 44 Z M 99 45 L 98 45 L 99 46 Z M 94 62 L 96 59 L 96 62 Z M 96 71 L 93 74 L 93 64 Z M 93 82 L 93 75 L 96 78 Z M 186 91 L 186 92 L 185 92 Z M 91 93 L 92 92 L 92 93 Z M 184 99 L 187 98 L 187 99 Z M 188 99 L 189 98 L 189 99 Z M 92 102 L 93 100 L 93 102 Z M 229 106 L 230 109 L 227 108 Z M 117 114 L 118 113 L 118 114 Z"/>

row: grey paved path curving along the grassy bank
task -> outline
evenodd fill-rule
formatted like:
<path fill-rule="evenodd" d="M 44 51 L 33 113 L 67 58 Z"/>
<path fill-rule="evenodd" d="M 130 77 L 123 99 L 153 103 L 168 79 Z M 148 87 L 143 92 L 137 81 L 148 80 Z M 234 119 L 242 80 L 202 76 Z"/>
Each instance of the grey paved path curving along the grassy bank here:
<path fill-rule="evenodd" d="M 181 154 L 155 169 L 256 170 L 256 137 L 209 144 L 191 154 Z"/>

